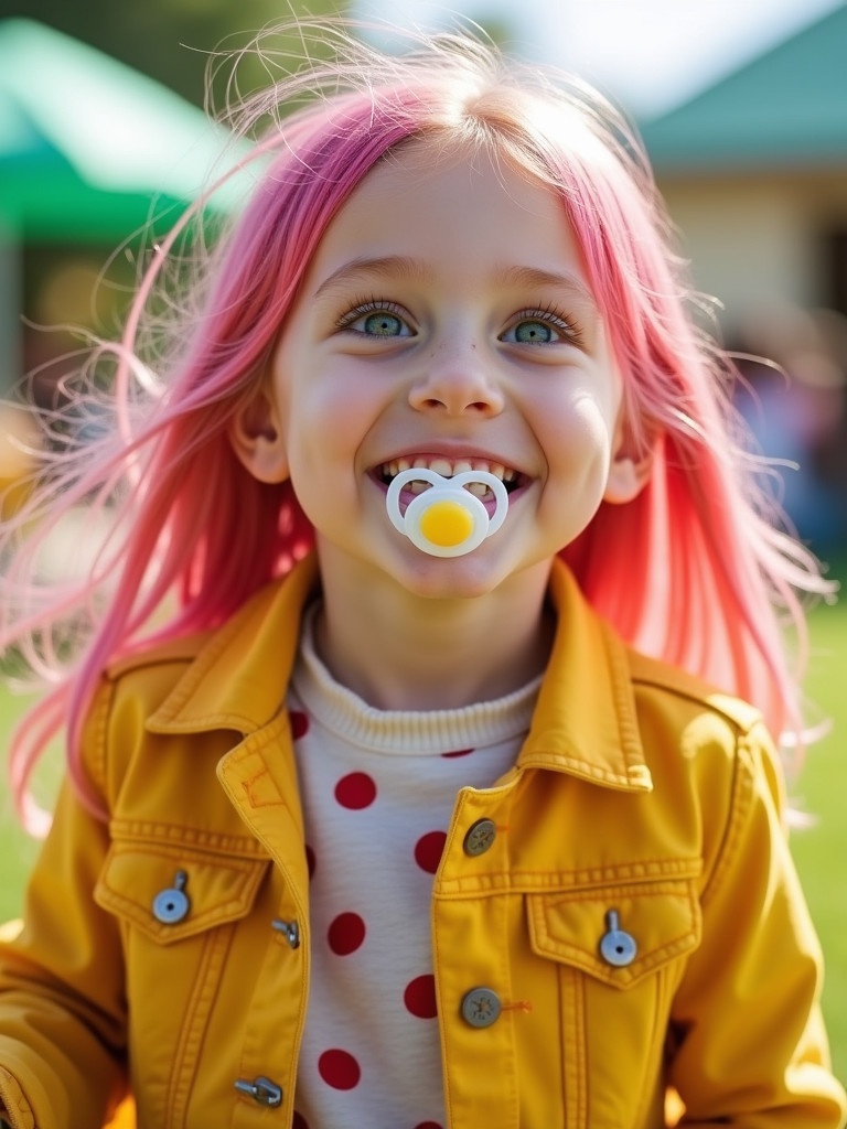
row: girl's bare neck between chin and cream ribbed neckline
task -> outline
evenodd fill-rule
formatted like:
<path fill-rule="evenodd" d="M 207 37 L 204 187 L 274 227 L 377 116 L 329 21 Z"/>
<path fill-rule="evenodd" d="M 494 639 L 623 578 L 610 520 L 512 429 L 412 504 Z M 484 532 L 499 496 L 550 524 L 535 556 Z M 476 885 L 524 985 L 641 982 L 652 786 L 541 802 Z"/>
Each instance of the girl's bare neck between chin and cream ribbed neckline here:
<path fill-rule="evenodd" d="M 430 599 L 322 568 L 315 646 L 333 677 L 377 709 L 459 709 L 525 685 L 547 665 L 549 562 L 473 599 Z M 329 575 L 328 575 L 329 574 Z"/>

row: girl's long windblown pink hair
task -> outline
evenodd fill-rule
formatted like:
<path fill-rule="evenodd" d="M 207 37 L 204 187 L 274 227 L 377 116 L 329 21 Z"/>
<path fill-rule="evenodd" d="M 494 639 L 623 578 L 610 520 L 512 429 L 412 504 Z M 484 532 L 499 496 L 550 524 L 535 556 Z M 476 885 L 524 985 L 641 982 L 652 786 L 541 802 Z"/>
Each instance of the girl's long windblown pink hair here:
<path fill-rule="evenodd" d="M 333 217 L 369 169 L 412 141 L 486 147 L 540 178 L 560 195 L 584 252 L 625 378 L 628 441 L 654 460 L 638 499 L 603 505 L 564 551 L 583 590 L 635 646 L 751 700 L 775 733 L 798 732 L 797 594 L 827 585 L 780 528 L 744 448 L 732 365 L 696 329 L 695 296 L 632 130 L 577 80 L 505 62 L 468 36 L 417 37 L 391 56 L 342 25 L 324 34 L 335 61 L 283 79 L 241 119 L 242 137 L 250 121 L 264 132 L 222 181 L 254 187 L 193 271 L 189 297 L 161 292 L 185 233 L 195 233 L 192 255 L 202 245 L 204 207 L 220 184 L 156 247 L 122 341 L 95 350 L 112 366 L 104 402 L 113 426 L 95 443 L 50 444 L 41 485 L 2 528 L 0 645 L 52 688 L 12 744 L 19 809 L 27 815 L 32 768 L 63 727 L 87 797 L 80 729 L 113 658 L 224 622 L 308 551 L 290 484 L 255 481 L 228 427 L 255 394 Z M 105 410 L 96 383 L 89 365 L 71 413 Z M 44 427 L 54 437 L 63 423 L 47 413 Z M 112 516 L 112 533 L 81 580 L 46 583 L 43 542 L 82 502 L 93 517 Z M 786 625 L 796 632 L 793 659 Z"/>

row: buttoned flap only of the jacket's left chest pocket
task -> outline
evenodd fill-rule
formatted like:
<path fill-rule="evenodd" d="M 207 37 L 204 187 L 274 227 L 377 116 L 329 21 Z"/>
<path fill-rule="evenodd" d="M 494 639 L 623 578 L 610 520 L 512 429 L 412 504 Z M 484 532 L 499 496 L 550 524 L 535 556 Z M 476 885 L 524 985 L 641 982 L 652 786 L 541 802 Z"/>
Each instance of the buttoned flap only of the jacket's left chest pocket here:
<path fill-rule="evenodd" d="M 264 858 L 203 852 L 173 842 L 115 841 L 94 898 L 167 945 L 245 917 L 269 866 Z M 174 891 L 184 901 L 171 896 Z M 163 912 L 163 904 L 169 912 Z"/>

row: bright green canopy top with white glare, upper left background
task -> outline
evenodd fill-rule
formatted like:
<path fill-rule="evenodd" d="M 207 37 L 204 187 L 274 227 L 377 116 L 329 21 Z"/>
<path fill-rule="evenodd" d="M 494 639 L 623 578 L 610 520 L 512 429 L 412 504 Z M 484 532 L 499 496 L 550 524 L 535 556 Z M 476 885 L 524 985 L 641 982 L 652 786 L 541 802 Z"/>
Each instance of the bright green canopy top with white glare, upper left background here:
<path fill-rule="evenodd" d="M 0 21 L 7 238 L 123 239 L 192 199 L 225 143 L 201 110 L 147 76 L 42 24 Z"/>

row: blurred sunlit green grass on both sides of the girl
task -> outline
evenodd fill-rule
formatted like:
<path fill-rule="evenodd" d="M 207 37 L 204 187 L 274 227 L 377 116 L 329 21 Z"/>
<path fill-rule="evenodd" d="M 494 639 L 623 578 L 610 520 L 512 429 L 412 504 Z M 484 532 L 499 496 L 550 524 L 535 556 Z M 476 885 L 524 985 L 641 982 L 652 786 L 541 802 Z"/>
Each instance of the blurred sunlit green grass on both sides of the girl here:
<path fill-rule="evenodd" d="M 847 569 L 841 570 L 847 578 Z M 847 597 L 835 607 L 817 609 L 811 618 L 813 659 L 807 693 L 831 718 L 831 732 L 809 752 L 792 794 L 797 806 L 814 817 L 809 829 L 792 837 L 812 917 L 827 960 L 823 1012 L 832 1044 L 836 1073 L 847 1080 Z M 20 701 L 0 693 L 0 749 L 6 746 Z M 59 756 L 49 758 L 40 772 L 40 798 L 55 789 Z M 0 791 L 0 921 L 20 912 L 24 882 L 37 850 L 16 824 L 8 788 Z"/>

